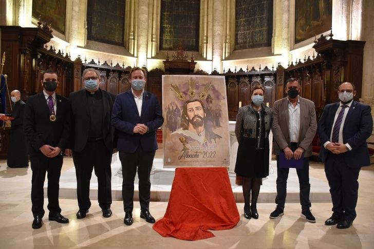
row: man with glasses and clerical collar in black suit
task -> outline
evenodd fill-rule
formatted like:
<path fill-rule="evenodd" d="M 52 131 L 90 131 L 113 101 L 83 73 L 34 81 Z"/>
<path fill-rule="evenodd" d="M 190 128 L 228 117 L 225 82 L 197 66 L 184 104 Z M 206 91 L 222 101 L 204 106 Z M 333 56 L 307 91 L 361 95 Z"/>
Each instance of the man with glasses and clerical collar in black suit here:
<path fill-rule="evenodd" d="M 116 96 L 99 88 L 100 73 L 94 68 L 83 71 L 84 89 L 70 93 L 72 110 L 72 156 L 77 175 L 79 210 L 86 217 L 91 206 L 89 182 L 92 169 L 98 178 L 98 199 L 103 217 L 111 216 L 111 157 L 114 152 L 114 128 L 111 108 Z M 69 155 L 70 151 L 67 151 Z"/>

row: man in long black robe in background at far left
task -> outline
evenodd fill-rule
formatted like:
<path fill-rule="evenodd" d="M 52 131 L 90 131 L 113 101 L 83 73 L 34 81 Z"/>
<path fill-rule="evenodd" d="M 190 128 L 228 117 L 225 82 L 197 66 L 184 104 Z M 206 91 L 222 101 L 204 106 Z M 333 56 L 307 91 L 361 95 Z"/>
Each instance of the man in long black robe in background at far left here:
<path fill-rule="evenodd" d="M 13 90 L 10 93 L 10 99 L 14 103 L 14 106 L 12 113 L 7 116 L 14 119 L 5 121 L 11 126 L 7 165 L 10 168 L 27 168 L 29 166 L 29 155 L 25 131 L 23 129 L 26 104 L 21 100 L 21 92 L 18 90 Z M 0 117 L 3 115 L 3 113 L 0 113 Z"/>

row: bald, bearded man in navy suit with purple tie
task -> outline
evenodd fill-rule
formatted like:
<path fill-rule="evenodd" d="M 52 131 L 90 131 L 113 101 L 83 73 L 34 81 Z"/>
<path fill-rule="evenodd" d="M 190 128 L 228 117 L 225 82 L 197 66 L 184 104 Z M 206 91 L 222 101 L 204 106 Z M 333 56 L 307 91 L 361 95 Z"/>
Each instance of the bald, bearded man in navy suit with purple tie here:
<path fill-rule="evenodd" d="M 325 106 L 318 134 L 332 199 L 333 213 L 325 224 L 348 228 L 356 218 L 360 169 L 370 165 L 366 139 L 372 132 L 372 117 L 370 106 L 353 100 L 352 83 L 341 84 L 338 95 L 340 102 Z"/>

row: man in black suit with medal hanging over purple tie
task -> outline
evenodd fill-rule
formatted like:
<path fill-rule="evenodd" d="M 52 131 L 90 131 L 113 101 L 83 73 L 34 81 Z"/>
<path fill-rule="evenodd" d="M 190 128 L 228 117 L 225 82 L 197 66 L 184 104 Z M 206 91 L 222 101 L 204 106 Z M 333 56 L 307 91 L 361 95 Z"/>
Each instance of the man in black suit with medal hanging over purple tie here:
<path fill-rule="evenodd" d="M 30 143 L 32 228 L 42 227 L 44 216 L 44 180 L 48 173 L 49 220 L 68 223 L 59 205 L 59 181 L 63 162 L 62 151 L 70 135 L 70 103 L 55 93 L 57 72 L 47 70 L 41 81 L 44 90 L 30 96 L 25 108 L 24 129 Z"/>

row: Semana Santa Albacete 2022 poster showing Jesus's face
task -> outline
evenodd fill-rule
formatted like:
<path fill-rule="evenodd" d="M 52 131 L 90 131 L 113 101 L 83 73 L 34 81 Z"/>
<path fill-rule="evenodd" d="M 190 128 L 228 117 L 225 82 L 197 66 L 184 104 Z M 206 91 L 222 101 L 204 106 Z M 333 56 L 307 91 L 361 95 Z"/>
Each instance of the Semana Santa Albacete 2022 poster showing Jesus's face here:
<path fill-rule="evenodd" d="M 165 167 L 228 166 L 224 76 L 162 75 Z"/>

